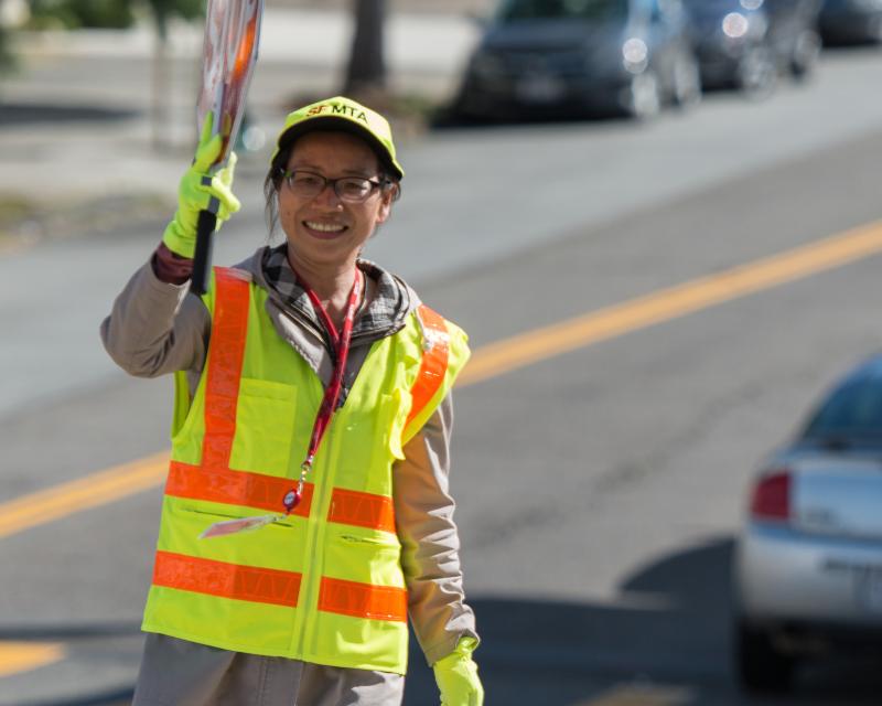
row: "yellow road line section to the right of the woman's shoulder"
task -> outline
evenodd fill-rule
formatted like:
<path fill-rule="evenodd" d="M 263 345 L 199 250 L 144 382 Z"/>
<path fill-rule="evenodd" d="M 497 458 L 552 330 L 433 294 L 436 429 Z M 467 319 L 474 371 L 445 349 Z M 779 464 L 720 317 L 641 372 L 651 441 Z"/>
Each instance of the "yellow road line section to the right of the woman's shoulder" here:
<path fill-rule="evenodd" d="M 631 331 L 841 267 L 880 250 L 882 222 L 876 222 L 717 275 L 528 331 L 478 350 L 465 366 L 458 384 L 472 385 Z"/>

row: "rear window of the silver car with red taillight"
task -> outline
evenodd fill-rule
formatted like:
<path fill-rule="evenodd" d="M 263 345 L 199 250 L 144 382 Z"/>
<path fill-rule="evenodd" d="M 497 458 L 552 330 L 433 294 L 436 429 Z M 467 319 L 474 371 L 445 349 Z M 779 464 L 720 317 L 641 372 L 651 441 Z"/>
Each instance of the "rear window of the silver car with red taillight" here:
<path fill-rule="evenodd" d="M 803 437 L 882 437 L 882 379 L 851 381 L 836 389 L 809 419 Z"/>

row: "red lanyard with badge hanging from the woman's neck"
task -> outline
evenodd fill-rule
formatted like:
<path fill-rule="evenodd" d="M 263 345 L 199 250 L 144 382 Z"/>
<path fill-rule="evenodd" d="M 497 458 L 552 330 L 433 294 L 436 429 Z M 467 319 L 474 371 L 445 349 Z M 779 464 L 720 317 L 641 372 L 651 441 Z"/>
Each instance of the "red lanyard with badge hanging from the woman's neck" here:
<path fill-rule="evenodd" d="M 297 272 L 294 274 L 297 275 Z M 324 438 L 325 431 L 327 431 L 331 419 L 334 416 L 334 413 L 337 410 L 340 394 L 343 389 L 343 376 L 346 372 L 346 360 L 349 356 L 349 344 L 352 342 L 352 329 L 355 322 L 355 312 L 358 310 L 358 302 L 362 299 L 362 290 L 364 289 L 364 275 L 359 269 L 356 268 L 355 281 L 353 282 L 352 291 L 349 292 L 349 299 L 346 303 L 346 311 L 343 318 L 343 328 L 340 331 L 336 330 L 334 322 L 331 321 L 331 317 L 322 306 L 322 302 L 319 300 L 319 296 L 315 293 L 315 290 L 306 285 L 305 280 L 300 277 L 300 275 L 297 277 L 300 282 L 304 285 L 306 295 L 309 296 L 310 301 L 312 301 L 313 308 L 322 318 L 322 322 L 324 323 L 324 327 L 331 336 L 331 343 L 335 353 L 334 371 L 331 374 L 331 382 L 329 383 L 327 388 L 324 391 L 322 404 L 319 406 L 319 413 L 315 415 L 315 421 L 312 425 L 312 435 L 310 435 L 310 445 L 306 449 L 306 458 L 303 459 L 303 463 L 300 464 L 300 478 L 298 479 L 297 485 L 289 490 L 284 498 L 281 499 L 281 505 L 284 509 L 283 515 L 260 515 L 257 517 L 244 517 L 240 520 L 217 522 L 203 532 L 200 535 L 200 538 L 219 537 L 229 534 L 238 534 L 239 532 L 251 532 L 268 524 L 272 524 L 273 522 L 284 520 L 288 515 L 290 515 L 303 500 L 303 486 L 306 482 L 306 475 L 312 470 L 312 464 L 315 461 L 315 454 L 319 451 L 319 446 L 322 443 L 322 439 Z"/>

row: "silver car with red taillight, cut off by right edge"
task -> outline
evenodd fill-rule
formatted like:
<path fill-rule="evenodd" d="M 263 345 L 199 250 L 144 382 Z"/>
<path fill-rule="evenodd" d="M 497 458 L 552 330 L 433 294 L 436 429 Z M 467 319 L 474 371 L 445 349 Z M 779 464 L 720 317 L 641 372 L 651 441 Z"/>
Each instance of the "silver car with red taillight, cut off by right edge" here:
<path fill-rule="evenodd" d="M 787 688 L 806 657 L 882 651 L 882 355 L 763 464 L 734 556 L 734 654 L 749 691 Z"/>

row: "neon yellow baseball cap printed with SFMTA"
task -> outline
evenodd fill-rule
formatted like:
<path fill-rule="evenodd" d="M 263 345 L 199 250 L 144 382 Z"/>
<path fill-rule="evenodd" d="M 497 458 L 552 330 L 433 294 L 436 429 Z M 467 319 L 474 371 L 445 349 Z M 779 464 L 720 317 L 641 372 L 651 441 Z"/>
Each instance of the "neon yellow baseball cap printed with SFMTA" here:
<path fill-rule="evenodd" d="M 314 130 L 343 130 L 365 139 L 384 167 L 398 179 L 404 178 L 405 170 L 395 157 L 389 121 L 379 113 L 343 96 L 320 100 L 289 113 L 276 141 L 276 151 L 272 152 L 270 163 L 273 164 L 279 152 L 293 140 Z"/>

